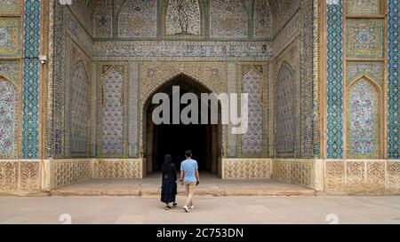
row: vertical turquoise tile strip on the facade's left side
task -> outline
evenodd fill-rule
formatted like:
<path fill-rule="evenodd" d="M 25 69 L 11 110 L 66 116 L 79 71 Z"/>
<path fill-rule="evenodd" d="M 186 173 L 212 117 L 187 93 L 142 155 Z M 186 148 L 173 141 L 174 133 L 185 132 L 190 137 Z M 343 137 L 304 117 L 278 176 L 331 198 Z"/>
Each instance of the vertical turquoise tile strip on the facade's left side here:
<path fill-rule="evenodd" d="M 39 156 L 40 0 L 25 1 L 22 157 Z"/>

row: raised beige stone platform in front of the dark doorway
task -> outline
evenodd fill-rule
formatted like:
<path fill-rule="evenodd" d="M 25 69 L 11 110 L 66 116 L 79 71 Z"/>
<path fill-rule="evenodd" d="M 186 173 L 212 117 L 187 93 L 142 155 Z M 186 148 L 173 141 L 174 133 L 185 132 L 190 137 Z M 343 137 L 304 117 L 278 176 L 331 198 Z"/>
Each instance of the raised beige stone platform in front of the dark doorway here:
<path fill-rule="evenodd" d="M 270 179 L 222 180 L 211 173 L 200 174 L 197 187 L 199 196 L 265 196 L 306 195 L 316 191 L 300 185 Z M 52 196 L 158 196 L 161 192 L 161 175 L 156 173 L 145 179 L 91 179 L 74 183 L 51 192 Z M 183 186 L 178 193 L 185 195 Z"/>

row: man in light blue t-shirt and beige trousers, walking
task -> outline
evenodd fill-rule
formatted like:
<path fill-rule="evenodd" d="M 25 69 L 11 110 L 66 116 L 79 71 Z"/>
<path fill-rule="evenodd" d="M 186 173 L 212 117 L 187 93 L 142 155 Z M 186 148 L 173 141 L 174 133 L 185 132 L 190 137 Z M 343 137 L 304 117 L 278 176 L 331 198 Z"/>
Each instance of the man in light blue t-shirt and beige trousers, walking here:
<path fill-rule="evenodd" d="M 197 161 L 192 160 L 192 151 L 186 151 L 185 157 L 186 160 L 180 163 L 180 184 L 185 184 L 188 199 L 183 209 L 188 212 L 189 209 L 195 208 L 192 199 L 195 194 L 196 186 L 200 183 L 200 176 L 198 174 Z"/>

